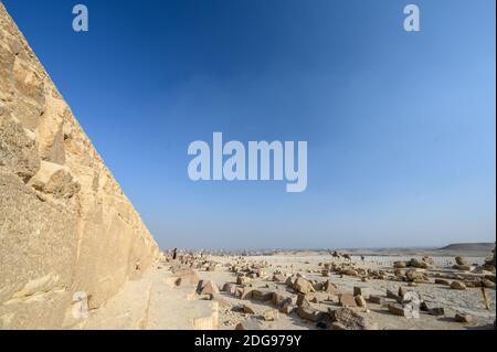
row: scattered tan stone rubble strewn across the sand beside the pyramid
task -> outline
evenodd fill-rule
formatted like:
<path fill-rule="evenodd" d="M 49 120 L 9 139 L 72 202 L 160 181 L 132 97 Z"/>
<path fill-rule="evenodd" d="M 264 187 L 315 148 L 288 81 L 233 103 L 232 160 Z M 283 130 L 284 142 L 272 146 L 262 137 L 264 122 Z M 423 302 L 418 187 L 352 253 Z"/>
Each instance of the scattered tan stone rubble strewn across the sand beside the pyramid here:
<path fill-rule="evenodd" d="M 233 257 L 223 266 L 211 260 L 209 255 L 200 253 L 179 254 L 177 264 L 171 264 L 170 269 L 179 276 L 176 285 L 197 285 L 200 299 L 214 299 L 221 303 L 225 300 L 223 295 L 240 299 L 239 305 L 224 305 L 226 309 L 245 317 L 235 326 L 237 330 L 261 329 L 261 322 L 277 321 L 281 314 L 296 314 L 319 329 L 376 330 L 378 324 L 370 314 L 370 307 L 406 318 L 409 310 L 405 305 L 413 302 L 410 294 L 415 292 L 416 285 L 440 285 L 454 290 L 474 287 L 495 289 L 495 267 L 490 267 L 489 263 L 486 263 L 486 269 L 482 274 L 457 274 L 459 268 L 453 268 L 455 273 L 440 271 L 430 257 L 394 262 L 393 269 L 384 270 L 364 269 L 352 259 L 342 258 L 340 256 L 339 262 L 319 263 L 318 269 L 307 269 L 307 273 L 320 276 L 321 280 L 308 279 L 303 271 L 295 273 L 293 266 L 286 266 L 292 273 L 285 273 L 283 266 L 275 265 L 278 269 L 269 269 L 267 262 L 250 260 L 247 257 Z M 467 265 L 463 257 L 455 258 L 455 263 L 457 266 Z M 195 274 L 195 270 L 214 271 L 222 268 L 233 273 L 234 279 L 220 287 L 213 281 L 200 280 Z M 398 281 L 399 290 L 371 295 L 368 287 L 357 285 L 353 290 L 348 291 L 340 289 L 338 278 L 331 279 L 334 275 L 357 277 L 358 284 L 369 280 Z M 266 284 L 262 286 L 264 282 Z M 444 307 L 434 306 L 419 294 L 414 297 L 419 298 L 415 303 L 421 313 L 445 317 Z M 257 302 L 257 307 L 262 303 L 266 308 L 256 308 L 252 302 Z M 322 308 L 324 303 L 327 303 L 327 309 Z M 453 319 L 466 324 L 473 322 L 473 317 L 466 313 L 458 312 Z"/>

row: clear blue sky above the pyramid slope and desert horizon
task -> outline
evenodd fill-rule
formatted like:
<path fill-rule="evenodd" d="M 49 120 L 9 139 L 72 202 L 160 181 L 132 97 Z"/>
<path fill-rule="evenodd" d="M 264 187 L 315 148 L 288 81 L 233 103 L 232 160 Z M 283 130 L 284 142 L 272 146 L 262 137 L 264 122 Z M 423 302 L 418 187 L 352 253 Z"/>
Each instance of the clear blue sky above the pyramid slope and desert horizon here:
<path fill-rule="evenodd" d="M 495 0 L 3 2 L 163 248 L 495 242 Z M 190 181 L 214 131 L 308 141 L 307 191 Z"/>

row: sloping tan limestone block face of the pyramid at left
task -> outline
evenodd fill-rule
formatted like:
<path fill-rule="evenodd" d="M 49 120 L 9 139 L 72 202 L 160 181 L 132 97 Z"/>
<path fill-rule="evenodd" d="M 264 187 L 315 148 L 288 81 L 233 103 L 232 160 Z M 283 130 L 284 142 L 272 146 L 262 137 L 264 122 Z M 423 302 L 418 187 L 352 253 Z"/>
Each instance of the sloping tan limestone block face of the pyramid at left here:
<path fill-rule="evenodd" d="M 0 2 L 0 329 L 77 327 L 158 247 Z"/>

